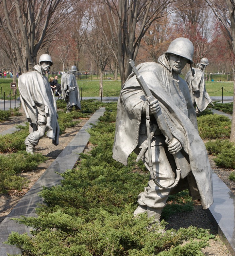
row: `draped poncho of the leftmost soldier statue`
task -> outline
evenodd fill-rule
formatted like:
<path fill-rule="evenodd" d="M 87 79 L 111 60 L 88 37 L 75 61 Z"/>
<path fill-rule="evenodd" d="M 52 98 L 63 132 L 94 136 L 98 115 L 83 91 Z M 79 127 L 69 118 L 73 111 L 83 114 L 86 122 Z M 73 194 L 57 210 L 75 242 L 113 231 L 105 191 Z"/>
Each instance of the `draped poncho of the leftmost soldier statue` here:
<path fill-rule="evenodd" d="M 18 88 L 20 100 L 30 125 L 36 125 L 38 114 L 45 116 L 45 106 L 49 114 L 46 119 L 46 136 L 52 143 L 59 144 L 59 124 L 57 121 L 57 106 L 47 77 L 42 74 L 40 65 L 34 66 L 34 71 L 19 76 Z"/>

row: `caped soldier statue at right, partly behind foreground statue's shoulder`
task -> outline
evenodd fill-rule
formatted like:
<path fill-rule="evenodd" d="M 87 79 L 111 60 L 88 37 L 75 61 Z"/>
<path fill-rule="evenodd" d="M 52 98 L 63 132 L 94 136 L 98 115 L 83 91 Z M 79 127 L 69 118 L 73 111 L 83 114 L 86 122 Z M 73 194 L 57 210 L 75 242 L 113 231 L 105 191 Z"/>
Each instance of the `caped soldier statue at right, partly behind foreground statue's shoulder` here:
<path fill-rule="evenodd" d="M 207 58 L 202 58 L 200 63 L 196 64 L 196 68 L 193 68 L 195 75 L 192 76 L 191 70 L 185 76 L 185 81 L 189 85 L 190 96 L 195 108 L 196 115 L 206 109 L 212 100 L 206 91 L 206 83 L 204 77 L 204 70 L 209 65 Z"/>

